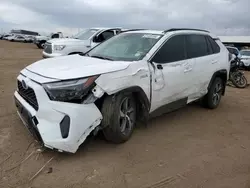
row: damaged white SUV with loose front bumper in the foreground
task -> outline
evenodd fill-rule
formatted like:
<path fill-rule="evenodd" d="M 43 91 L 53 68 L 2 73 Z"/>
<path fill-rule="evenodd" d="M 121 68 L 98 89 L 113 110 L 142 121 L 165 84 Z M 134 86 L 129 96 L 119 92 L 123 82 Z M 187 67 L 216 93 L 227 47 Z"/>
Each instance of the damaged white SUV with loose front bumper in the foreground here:
<path fill-rule="evenodd" d="M 203 30 L 127 31 L 84 55 L 24 68 L 16 106 L 48 148 L 74 153 L 98 130 L 122 143 L 136 121 L 199 99 L 216 108 L 225 93 L 229 57 L 221 41 Z"/>

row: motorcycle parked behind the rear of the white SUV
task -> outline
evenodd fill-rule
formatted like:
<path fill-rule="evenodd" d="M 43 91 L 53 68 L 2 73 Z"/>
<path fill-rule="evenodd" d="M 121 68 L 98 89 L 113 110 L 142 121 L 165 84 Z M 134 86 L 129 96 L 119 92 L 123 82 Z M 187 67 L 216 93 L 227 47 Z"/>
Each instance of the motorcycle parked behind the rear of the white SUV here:
<path fill-rule="evenodd" d="M 229 81 L 237 88 L 245 88 L 247 86 L 247 79 L 244 73 L 240 71 L 241 66 L 242 62 L 238 57 L 235 57 L 235 59 L 231 61 Z"/>

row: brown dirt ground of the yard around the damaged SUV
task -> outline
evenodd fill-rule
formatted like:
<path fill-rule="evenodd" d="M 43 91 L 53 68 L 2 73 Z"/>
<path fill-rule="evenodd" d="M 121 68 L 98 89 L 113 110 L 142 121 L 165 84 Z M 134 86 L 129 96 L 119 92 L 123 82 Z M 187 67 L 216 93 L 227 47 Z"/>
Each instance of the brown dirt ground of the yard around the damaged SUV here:
<path fill-rule="evenodd" d="M 122 145 L 98 136 L 75 154 L 41 151 L 13 102 L 18 72 L 41 55 L 0 41 L 1 188 L 250 187 L 250 87 L 227 87 L 216 110 L 192 104 L 155 118 Z"/>

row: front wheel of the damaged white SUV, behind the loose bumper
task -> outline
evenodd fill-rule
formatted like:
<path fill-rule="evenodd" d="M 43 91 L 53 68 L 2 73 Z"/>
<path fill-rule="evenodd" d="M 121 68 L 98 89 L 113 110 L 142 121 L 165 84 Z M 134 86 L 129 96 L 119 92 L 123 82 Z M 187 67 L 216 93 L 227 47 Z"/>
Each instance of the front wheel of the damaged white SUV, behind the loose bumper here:
<path fill-rule="evenodd" d="M 120 144 L 129 140 L 133 133 L 136 123 L 137 105 L 131 93 L 119 93 L 114 100 L 113 97 L 107 96 L 102 105 L 103 134 L 106 140 Z M 126 104 L 127 108 L 125 111 Z"/>

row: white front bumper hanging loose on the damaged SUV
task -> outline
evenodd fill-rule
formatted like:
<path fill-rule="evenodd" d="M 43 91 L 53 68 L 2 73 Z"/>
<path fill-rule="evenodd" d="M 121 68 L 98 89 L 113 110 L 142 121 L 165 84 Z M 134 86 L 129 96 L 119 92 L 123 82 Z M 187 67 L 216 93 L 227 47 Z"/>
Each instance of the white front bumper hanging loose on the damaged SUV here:
<path fill-rule="evenodd" d="M 49 100 L 43 87 L 25 78 L 18 76 L 18 80 L 26 81 L 29 88 L 34 90 L 38 110 L 15 91 L 14 98 L 18 107 L 18 115 L 32 135 L 45 147 L 75 153 L 86 137 L 101 123 L 102 114 L 95 104 L 73 104 Z M 63 138 L 65 132 L 62 121 L 69 117 L 68 136 Z"/>

